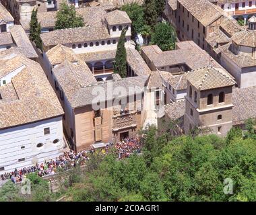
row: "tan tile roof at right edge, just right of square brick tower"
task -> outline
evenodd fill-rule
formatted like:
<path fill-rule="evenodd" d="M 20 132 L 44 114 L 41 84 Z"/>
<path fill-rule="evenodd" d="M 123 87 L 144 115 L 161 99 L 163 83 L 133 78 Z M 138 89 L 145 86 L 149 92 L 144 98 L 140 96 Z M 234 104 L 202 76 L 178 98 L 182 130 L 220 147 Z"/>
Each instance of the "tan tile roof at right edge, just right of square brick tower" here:
<path fill-rule="evenodd" d="M 256 87 L 234 88 L 232 103 L 233 124 L 243 124 L 249 118 L 256 118 Z"/>

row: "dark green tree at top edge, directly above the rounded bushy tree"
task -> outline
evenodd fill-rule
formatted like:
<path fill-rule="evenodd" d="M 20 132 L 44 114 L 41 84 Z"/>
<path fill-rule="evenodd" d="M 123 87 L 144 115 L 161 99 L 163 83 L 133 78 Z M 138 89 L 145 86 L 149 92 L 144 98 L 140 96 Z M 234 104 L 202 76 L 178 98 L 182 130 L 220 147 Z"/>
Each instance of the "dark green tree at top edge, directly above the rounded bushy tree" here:
<path fill-rule="evenodd" d="M 143 3 L 143 8 L 145 13 L 144 18 L 146 20 L 146 24 L 153 28 L 158 18 L 158 9 L 156 8 L 155 0 L 145 0 Z"/>

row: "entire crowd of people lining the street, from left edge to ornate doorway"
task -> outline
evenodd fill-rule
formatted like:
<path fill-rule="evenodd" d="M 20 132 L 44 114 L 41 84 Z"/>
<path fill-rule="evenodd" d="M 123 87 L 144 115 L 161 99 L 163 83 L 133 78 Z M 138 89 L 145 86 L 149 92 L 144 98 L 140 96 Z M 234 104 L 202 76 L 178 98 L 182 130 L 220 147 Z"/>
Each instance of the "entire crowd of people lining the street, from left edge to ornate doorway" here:
<path fill-rule="evenodd" d="M 107 154 L 108 148 L 109 145 L 107 145 L 106 148 L 103 148 L 101 152 Z M 140 153 L 141 143 L 139 142 L 139 138 L 125 138 L 122 141 L 117 142 L 115 148 L 117 149 L 119 159 L 123 159 L 129 157 L 132 153 Z M 84 162 L 89 159 L 88 154 L 90 153 L 94 153 L 94 150 L 83 150 L 77 153 L 70 150 L 59 156 L 57 159 L 45 161 L 44 163 L 36 163 L 34 166 L 24 167 L 20 170 L 15 169 L 10 173 L 4 173 L 1 175 L 1 180 L 5 181 L 11 179 L 13 183 L 16 183 L 22 181 L 28 173 L 37 172 L 40 177 L 54 174 L 58 169 L 70 169 L 78 164 L 83 165 Z"/>

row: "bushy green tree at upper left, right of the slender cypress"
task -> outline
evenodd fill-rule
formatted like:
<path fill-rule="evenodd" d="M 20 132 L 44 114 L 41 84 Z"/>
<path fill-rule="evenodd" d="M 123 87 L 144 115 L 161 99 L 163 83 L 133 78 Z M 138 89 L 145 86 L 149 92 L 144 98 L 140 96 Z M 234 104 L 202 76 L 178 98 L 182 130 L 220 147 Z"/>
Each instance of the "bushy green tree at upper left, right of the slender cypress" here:
<path fill-rule="evenodd" d="M 77 15 L 75 6 L 61 3 L 59 11 L 57 11 L 55 29 L 77 28 L 84 26 L 84 19 L 81 15 Z"/>

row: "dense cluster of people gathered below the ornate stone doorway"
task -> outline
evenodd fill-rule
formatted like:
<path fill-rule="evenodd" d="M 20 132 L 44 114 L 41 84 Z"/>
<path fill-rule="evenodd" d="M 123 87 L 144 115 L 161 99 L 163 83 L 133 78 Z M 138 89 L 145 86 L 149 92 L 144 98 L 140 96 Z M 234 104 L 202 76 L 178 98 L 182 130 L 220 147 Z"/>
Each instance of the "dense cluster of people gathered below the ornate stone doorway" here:
<path fill-rule="evenodd" d="M 124 159 L 133 153 L 140 153 L 141 142 L 139 138 L 124 138 L 115 144 L 115 148 L 118 151 L 119 159 Z"/>

